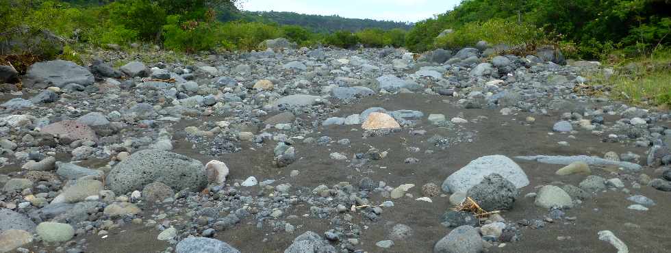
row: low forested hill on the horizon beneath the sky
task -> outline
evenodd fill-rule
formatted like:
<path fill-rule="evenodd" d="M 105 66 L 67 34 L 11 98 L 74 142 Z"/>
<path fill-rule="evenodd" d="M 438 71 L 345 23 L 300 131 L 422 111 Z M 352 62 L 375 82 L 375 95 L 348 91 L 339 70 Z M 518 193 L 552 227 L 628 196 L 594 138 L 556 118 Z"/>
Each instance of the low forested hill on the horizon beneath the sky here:
<path fill-rule="evenodd" d="M 410 29 L 412 24 L 394 21 L 375 21 L 341 16 L 320 16 L 295 12 L 242 12 L 245 20 L 278 23 L 280 25 L 300 25 L 317 33 L 332 33 L 339 30 L 359 31 L 366 28 Z"/>

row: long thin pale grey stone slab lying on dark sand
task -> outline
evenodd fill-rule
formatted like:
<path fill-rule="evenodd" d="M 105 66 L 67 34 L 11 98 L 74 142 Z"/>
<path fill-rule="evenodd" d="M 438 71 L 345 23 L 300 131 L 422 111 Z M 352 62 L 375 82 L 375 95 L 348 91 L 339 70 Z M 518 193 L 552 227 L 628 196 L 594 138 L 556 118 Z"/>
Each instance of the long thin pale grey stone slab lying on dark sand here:
<path fill-rule="evenodd" d="M 559 155 L 533 155 L 529 157 L 515 157 L 515 158 L 526 161 L 537 161 L 539 163 L 559 164 L 559 165 L 569 165 L 576 161 L 582 161 L 589 165 L 616 165 L 626 170 L 634 170 L 634 171 L 641 170 L 641 165 L 638 165 L 636 163 L 630 163 L 628 161 L 613 161 L 609 159 L 603 159 L 601 157 L 590 157 L 587 155 L 575 155 L 570 157 L 559 156 Z"/>

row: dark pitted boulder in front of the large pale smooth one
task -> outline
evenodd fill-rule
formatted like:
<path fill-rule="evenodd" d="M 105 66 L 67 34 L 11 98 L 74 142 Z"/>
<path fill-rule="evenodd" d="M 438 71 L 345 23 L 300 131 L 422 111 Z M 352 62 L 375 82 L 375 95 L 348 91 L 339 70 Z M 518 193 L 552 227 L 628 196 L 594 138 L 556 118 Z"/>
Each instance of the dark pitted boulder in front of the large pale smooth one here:
<path fill-rule="evenodd" d="M 482 182 L 468 189 L 466 194 L 486 211 L 510 210 L 518 195 L 517 187 L 499 174 L 485 176 Z"/>

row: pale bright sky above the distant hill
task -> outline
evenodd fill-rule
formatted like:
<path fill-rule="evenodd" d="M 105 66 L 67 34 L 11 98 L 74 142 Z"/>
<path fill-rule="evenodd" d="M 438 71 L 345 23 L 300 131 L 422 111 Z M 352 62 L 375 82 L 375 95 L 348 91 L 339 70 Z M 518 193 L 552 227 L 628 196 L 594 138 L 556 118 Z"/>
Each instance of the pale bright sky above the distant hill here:
<path fill-rule="evenodd" d="M 452 10 L 461 0 L 242 0 L 242 10 L 417 22 Z"/>

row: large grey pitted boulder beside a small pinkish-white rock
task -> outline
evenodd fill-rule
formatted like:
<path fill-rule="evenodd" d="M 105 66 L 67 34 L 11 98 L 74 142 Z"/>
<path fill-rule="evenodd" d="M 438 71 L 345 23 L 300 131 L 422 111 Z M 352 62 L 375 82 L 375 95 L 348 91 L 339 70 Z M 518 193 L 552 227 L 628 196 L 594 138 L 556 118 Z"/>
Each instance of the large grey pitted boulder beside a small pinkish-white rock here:
<path fill-rule="evenodd" d="M 175 191 L 199 191 L 207 185 L 205 166 L 198 160 L 164 150 L 140 150 L 118 163 L 107 175 L 107 186 L 116 194 L 142 190 L 161 182 Z"/>

